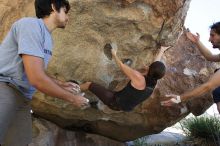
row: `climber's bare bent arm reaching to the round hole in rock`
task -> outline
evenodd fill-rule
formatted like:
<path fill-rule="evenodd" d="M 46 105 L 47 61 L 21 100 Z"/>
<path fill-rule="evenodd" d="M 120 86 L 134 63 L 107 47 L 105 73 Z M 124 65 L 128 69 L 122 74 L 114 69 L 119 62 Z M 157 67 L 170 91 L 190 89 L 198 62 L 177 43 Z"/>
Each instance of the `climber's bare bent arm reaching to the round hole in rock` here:
<path fill-rule="evenodd" d="M 133 85 L 133 87 L 140 90 L 145 88 L 144 76 L 140 72 L 130 68 L 126 64 L 123 64 L 122 61 L 116 55 L 117 46 L 114 46 L 111 51 L 112 51 L 112 57 L 114 58 L 115 62 L 122 70 L 122 72 L 131 80 L 131 84 Z"/>

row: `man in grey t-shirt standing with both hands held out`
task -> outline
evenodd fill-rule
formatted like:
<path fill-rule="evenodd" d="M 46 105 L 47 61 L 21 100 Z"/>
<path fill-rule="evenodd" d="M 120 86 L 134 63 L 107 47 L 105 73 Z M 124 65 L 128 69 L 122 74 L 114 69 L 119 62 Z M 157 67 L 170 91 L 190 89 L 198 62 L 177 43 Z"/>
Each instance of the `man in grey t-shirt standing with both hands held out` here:
<path fill-rule="evenodd" d="M 52 55 L 51 33 L 65 28 L 67 0 L 35 0 L 38 18 L 16 21 L 0 46 L 0 145 L 24 146 L 31 142 L 29 101 L 35 88 L 53 97 L 86 106 L 88 100 L 72 94 L 79 88 L 50 78 L 45 68 Z"/>

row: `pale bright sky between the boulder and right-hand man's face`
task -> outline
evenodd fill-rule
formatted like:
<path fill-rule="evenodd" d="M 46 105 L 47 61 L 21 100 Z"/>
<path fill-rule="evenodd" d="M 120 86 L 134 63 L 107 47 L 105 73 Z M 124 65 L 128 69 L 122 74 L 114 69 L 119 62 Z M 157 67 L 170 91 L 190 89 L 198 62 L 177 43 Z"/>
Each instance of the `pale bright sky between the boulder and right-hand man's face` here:
<path fill-rule="evenodd" d="M 193 33 L 198 32 L 200 40 L 210 49 L 209 26 L 220 21 L 219 7 L 220 0 L 192 0 L 185 20 L 185 27 Z"/>

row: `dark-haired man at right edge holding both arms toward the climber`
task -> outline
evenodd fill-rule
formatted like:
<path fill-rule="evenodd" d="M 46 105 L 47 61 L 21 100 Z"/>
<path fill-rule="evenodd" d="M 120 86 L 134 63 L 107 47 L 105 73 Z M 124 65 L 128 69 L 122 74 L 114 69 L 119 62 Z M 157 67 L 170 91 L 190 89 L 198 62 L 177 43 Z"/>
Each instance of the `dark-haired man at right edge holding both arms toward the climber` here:
<path fill-rule="evenodd" d="M 212 43 L 213 48 L 220 50 L 220 22 L 216 22 L 210 26 L 210 37 L 209 42 Z M 191 32 L 186 32 L 187 38 L 192 41 L 198 48 L 202 55 L 208 60 L 213 62 L 220 62 L 220 54 L 213 54 L 207 47 L 203 45 L 200 41 L 200 36 L 198 33 L 192 34 Z M 207 92 L 213 91 L 214 102 L 217 104 L 218 111 L 220 111 L 220 100 L 216 98 L 220 97 L 220 70 L 216 71 L 210 79 L 200 85 L 199 87 L 193 89 L 192 91 L 186 92 L 181 95 L 166 95 L 170 98 L 168 100 L 162 101 L 163 106 L 172 106 L 180 102 L 188 101 L 191 98 L 199 97 Z"/>

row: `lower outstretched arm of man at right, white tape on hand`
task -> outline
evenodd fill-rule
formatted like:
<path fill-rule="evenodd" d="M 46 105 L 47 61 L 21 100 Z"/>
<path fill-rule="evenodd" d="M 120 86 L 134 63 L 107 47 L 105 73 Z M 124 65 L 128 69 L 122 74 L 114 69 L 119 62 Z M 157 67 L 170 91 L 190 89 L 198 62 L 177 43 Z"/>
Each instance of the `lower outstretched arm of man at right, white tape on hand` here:
<path fill-rule="evenodd" d="M 192 91 L 186 92 L 181 95 L 168 95 L 171 99 L 162 101 L 161 104 L 164 106 L 172 106 L 173 104 L 188 101 L 191 98 L 199 97 L 209 91 L 212 91 L 216 87 L 220 86 L 220 71 L 217 71 L 208 82 L 202 84 L 201 86 L 195 88 Z M 175 102 L 176 101 L 176 102 Z"/>

